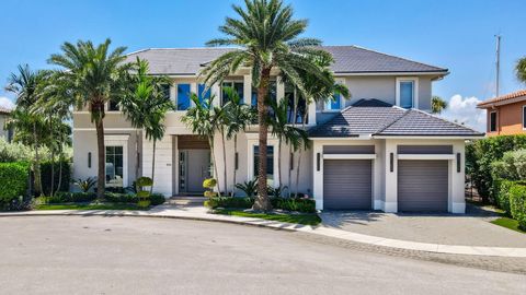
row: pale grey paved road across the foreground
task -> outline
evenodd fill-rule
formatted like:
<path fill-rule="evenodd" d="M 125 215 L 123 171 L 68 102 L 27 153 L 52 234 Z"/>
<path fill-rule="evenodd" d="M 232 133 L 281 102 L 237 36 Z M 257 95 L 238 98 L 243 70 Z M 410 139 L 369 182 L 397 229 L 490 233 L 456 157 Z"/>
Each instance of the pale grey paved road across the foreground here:
<path fill-rule="evenodd" d="M 138 217 L 0 219 L 1 294 L 526 294 L 526 275 L 305 234 Z"/>

